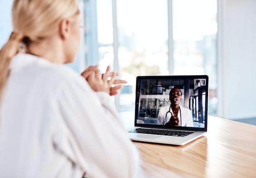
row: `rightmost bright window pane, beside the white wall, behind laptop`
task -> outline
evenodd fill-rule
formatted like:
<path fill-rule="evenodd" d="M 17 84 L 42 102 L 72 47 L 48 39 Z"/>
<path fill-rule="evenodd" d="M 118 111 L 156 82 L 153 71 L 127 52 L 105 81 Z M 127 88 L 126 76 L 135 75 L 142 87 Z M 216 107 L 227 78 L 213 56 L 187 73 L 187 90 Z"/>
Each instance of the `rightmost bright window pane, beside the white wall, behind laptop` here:
<path fill-rule="evenodd" d="M 209 76 L 209 114 L 217 114 L 217 0 L 173 0 L 174 75 Z"/>

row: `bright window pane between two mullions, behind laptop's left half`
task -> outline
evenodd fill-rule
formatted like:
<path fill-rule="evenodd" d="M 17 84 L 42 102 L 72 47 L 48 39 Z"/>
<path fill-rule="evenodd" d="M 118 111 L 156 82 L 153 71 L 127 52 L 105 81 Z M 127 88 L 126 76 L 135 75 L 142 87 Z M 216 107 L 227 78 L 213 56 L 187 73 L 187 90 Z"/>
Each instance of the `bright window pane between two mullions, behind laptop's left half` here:
<path fill-rule="evenodd" d="M 137 76 L 169 74 L 167 17 L 167 1 L 117 0 L 119 73 L 128 81 L 119 111 L 134 110 Z"/>

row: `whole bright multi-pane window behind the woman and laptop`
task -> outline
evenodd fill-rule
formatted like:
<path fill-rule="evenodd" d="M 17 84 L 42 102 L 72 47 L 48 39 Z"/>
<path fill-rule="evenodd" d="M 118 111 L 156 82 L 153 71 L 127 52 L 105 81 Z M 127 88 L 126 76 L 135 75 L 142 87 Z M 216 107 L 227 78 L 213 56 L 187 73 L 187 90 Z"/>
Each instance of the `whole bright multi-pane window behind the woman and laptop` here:
<path fill-rule="evenodd" d="M 116 97 L 119 111 L 135 108 L 136 76 L 206 74 L 209 114 L 216 114 L 217 0 L 97 0 L 86 14 L 97 18 L 87 38 L 98 33 L 87 43 L 97 44 L 98 58 L 88 61 L 99 62 L 102 72 L 110 65 L 128 81 Z"/>

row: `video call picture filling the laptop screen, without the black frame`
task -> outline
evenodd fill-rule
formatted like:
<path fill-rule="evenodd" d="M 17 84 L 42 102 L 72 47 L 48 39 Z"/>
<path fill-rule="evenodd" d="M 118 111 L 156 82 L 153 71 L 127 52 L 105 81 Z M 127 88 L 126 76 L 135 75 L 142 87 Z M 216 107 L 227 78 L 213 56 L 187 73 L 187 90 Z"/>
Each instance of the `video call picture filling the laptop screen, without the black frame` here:
<path fill-rule="evenodd" d="M 205 125 L 206 79 L 147 79 L 140 82 L 138 124 Z"/>

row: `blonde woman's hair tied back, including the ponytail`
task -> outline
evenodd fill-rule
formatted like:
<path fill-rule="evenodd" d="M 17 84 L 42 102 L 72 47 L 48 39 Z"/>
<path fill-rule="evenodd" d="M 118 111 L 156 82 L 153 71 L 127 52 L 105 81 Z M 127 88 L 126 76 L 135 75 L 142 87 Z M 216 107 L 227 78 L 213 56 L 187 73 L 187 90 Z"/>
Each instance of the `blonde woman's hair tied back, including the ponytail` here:
<path fill-rule="evenodd" d="M 14 0 L 13 32 L 0 50 L 0 99 L 9 75 L 9 63 L 21 49 L 53 35 L 64 18 L 80 14 L 77 0 Z"/>

